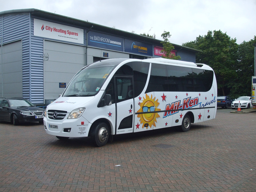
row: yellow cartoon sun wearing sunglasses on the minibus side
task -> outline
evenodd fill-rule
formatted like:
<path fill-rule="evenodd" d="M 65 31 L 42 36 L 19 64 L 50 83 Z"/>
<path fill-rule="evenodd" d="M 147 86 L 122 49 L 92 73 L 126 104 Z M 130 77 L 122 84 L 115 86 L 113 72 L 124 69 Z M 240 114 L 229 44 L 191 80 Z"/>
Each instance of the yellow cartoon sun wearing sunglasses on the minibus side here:
<path fill-rule="evenodd" d="M 159 106 L 158 99 L 154 97 L 151 94 L 151 97 L 146 94 L 146 98 L 143 97 L 142 102 L 140 103 L 140 109 L 137 111 L 137 113 L 140 113 L 137 115 L 138 118 L 140 118 L 140 124 L 148 124 L 148 126 L 151 128 L 153 125 L 156 126 L 156 118 L 160 117 L 158 113 L 154 111 L 160 111 L 161 109 L 157 108 Z M 152 113 L 146 113 L 146 112 L 152 112 Z M 144 126 L 143 126 L 144 127 Z M 147 127 L 148 128 L 148 127 Z"/>

